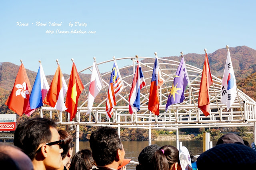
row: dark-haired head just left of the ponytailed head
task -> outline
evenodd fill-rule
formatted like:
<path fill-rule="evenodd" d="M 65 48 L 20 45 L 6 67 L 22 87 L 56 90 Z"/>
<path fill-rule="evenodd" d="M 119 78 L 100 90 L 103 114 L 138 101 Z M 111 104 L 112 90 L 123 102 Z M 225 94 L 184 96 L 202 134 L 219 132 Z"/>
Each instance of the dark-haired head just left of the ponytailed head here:
<path fill-rule="evenodd" d="M 139 154 L 138 161 L 140 164 L 136 166 L 136 170 L 154 170 L 152 158 L 159 148 L 156 144 L 146 146 Z"/>

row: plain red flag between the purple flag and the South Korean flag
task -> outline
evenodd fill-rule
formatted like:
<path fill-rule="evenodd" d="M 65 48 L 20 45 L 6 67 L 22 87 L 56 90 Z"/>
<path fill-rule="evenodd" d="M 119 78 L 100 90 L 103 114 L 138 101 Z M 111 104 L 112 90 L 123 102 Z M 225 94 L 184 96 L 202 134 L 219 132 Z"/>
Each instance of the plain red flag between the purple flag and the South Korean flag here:
<path fill-rule="evenodd" d="M 212 74 L 210 71 L 208 56 L 206 53 L 198 96 L 198 108 L 202 110 L 204 116 L 208 116 L 210 114 L 209 87 L 210 85 L 212 85 L 212 83 Z"/>

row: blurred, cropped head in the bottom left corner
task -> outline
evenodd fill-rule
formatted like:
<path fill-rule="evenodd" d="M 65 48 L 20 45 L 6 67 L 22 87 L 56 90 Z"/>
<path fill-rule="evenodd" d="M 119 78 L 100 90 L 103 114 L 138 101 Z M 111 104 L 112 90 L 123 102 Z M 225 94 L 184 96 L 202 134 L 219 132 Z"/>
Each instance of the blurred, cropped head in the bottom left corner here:
<path fill-rule="evenodd" d="M 0 143 L 1 169 L 34 170 L 30 158 L 13 145 Z"/>

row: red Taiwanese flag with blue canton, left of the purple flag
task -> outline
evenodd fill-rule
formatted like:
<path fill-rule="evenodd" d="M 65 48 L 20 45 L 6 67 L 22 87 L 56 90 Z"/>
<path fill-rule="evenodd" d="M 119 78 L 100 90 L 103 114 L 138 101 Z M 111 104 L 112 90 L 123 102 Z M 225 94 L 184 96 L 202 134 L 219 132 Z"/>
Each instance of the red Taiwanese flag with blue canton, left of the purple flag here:
<path fill-rule="evenodd" d="M 158 89 L 162 84 L 164 84 L 164 79 L 160 76 L 160 71 L 158 67 L 158 58 L 156 57 L 151 85 L 150 85 L 150 93 L 148 100 L 148 110 L 150 110 L 153 114 L 159 115 L 159 94 Z"/>

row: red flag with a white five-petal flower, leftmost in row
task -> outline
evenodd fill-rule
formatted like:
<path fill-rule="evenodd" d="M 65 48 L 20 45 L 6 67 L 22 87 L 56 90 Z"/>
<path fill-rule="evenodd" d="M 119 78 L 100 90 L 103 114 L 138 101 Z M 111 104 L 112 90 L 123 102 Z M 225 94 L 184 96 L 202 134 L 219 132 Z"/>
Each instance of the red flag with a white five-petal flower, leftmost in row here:
<path fill-rule="evenodd" d="M 5 104 L 8 106 L 9 109 L 13 110 L 18 115 L 22 116 L 22 114 L 25 111 L 30 110 L 30 91 L 30 82 L 28 80 L 26 70 L 23 64 L 21 63 L 20 69 L 14 82 L 14 86 L 12 88 L 12 92 L 6 100 Z"/>

